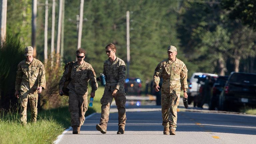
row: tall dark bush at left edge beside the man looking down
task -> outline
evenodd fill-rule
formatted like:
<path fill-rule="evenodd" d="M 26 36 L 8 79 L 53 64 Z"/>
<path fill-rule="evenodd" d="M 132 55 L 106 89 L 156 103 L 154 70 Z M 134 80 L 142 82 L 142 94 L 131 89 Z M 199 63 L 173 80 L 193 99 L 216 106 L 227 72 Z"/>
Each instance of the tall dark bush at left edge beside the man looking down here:
<path fill-rule="evenodd" d="M 9 109 L 15 106 L 15 80 L 17 65 L 25 59 L 24 46 L 19 38 L 7 35 L 6 42 L 0 48 L 0 106 Z M 11 107 L 12 108 L 12 107 Z"/>

